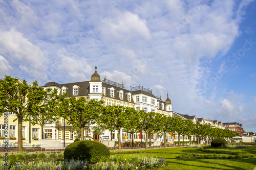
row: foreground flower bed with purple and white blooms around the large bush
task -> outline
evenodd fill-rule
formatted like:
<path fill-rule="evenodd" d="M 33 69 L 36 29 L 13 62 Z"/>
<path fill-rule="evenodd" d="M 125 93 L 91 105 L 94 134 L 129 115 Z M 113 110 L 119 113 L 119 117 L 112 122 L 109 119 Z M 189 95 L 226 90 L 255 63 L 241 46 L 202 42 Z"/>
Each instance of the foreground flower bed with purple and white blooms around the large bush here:
<path fill-rule="evenodd" d="M 64 160 L 63 154 L 22 154 L 10 155 L 8 165 L 3 157 L 1 169 L 152 169 L 166 165 L 165 159 L 148 156 L 112 155 L 106 162 L 91 162 L 79 160 Z"/>

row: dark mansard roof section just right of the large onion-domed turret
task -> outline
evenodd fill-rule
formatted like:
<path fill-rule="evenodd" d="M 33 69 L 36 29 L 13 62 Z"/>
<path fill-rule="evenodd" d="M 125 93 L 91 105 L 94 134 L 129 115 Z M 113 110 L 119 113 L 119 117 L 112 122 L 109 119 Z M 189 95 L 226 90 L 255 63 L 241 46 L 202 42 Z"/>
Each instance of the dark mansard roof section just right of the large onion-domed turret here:
<path fill-rule="evenodd" d="M 119 98 L 119 92 L 118 92 L 118 91 L 122 90 L 122 91 L 123 91 L 123 100 L 120 100 L 120 101 L 130 102 L 130 101 L 128 101 L 128 96 L 127 96 L 127 94 L 126 94 L 126 93 L 129 93 L 129 92 L 132 94 L 132 92 L 131 92 L 130 90 L 126 90 L 126 89 L 124 89 L 124 88 L 116 87 L 116 86 L 113 86 L 113 85 L 110 85 L 110 84 L 107 84 L 107 83 L 103 83 L 103 82 L 102 82 L 102 87 L 105 87 L 105 88 L 106 88 L 106 94 L 105 94 L 105 96 L 107 96 L 108 98 L 112 98 L 112 97 L 110 96 L 110 90 L 109 90 L 109 88 L 113 87 L 113 88 L 115 89 L 115 90 L 114 90 L 114 96 L 115 96 L 115 98 L 113 98 L 113 99 L 120 100 L 120 98 Z M 132 100 L 131 102 L 134 103 L 133 98 L 132 98 L 132 95 L 131 95 L 131 100 Z"/>

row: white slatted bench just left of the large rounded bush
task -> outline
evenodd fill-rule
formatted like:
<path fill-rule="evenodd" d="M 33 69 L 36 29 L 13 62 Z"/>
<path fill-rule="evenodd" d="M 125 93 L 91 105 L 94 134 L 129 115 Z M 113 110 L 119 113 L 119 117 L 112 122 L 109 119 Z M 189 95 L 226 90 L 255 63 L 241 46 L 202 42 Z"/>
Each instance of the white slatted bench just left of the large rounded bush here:
<path fill-rule="evenodd" d="M 41 151 L 54 150 L 56 152 L 57 150 L 65 150 L 60 140 L 42 139 L 39 141 Z"/>

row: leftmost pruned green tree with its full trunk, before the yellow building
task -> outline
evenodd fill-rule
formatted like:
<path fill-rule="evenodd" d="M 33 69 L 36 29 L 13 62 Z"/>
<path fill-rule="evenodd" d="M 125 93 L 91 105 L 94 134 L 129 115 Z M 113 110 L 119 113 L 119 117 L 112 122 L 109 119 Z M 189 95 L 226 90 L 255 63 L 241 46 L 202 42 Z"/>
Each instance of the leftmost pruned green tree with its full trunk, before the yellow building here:
<path fill-rule="evenodd" d="M 20 81 L 11 76 L 5 76 L 0 80 L 0 114 L 12 112 L 18 120 L 18 153 L 23 153 L 22 124 L 29 111 L 41 105 L 41 96 L 44 88 L 39 87 L 37 82 L 28 85 L 26 80 Z"/>

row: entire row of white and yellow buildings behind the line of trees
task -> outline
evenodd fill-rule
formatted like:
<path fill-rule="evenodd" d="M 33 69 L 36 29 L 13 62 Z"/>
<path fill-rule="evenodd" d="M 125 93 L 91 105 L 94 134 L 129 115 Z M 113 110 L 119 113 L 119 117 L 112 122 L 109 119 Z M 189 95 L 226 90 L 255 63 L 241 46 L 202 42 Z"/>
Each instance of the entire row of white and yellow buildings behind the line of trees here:
<path fill-rule="evenodd" d="M 162 113 L 167 116 L 178 116 L 182 119 L 189 119 L 195 124 L 208 125 L 214 128 L 230 129 L 237 131 L 239 134 L 243 134 L 243 128 L 241 124 L 237 123 L 222 123 L 217 120 L 207 120 L 204 118 L 197 118 L 189 116 L 187 114 L 180 114 L 172 111 L 172 102 L 170 101 L 168 94 L 167 99 L 163 101 L 161 96 L 158 97 L 153 94 L 152 89 L 145 88 L 143 86 L 130 87 L 126 89 L 123 83 L 116 83 L 114 81 L 106 79 L 101 81 L 100 76 L 97 73 L 97 67 L 95 66 L 95 72 L 91 76 L 90 81 L 75 82 L 58 84 L 56 82 L 48 82 L 44 86 L 45 89 L 56 88 L 58 94 L 67 93 L 68 97 L 74 96 L 75 98 L 84 97 L 87 100 L 102 100 L 104 106 L 124 106 L 133 107 L 137 111 L 144 110 L 145 112 Z M 4 117 L 4 116 L 3 116 Z M 13 122 L 16 116 L 12 113 L 8 114 L 8 138 L 12 138 L 13 142 L 17 142 L 17 121 Z M 88 125 L 84 128 L 84 136 L 92 137 L 95 141 L 99 140 L 117 140 L 117 131 L 110 132 L 105 130 L 101 136 L 94 135 L 93 131 L 97 125 Z M 79 133 L 76 133 L 71 125 L 68 125 L 68 120 L 59 118 L 58 122 L 46 124 L 43 129 L 44 139 L 58 139 L 66 143 L 72 143 L 76 137 L 79 137 Z M 129 141 L 132 138 L 131 134 L 121 132 L 121 136 L 127 136 L 123 141 Z M 0 138 L 4 136 L 4 118 L 0 119 Z M 16 139 L 15 139 L 16 137 Z M 32 126 L 29 122 L 23 123 L 23 142 L 26 143 L 39 143 L 38 139 L 41 139 L 41 127 L 39 125 Z M 134 134 L 135 140 L 145 139 L 144 132 Z M 153 139 L 159 139 L 157 134 L 153 135 Z M 171 134 L 168 134 L 168 140 L 174 140 Z M 2 141 L 0 140 L 2 143 Z"/>

